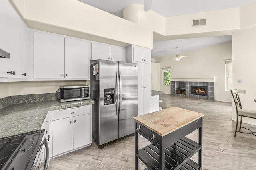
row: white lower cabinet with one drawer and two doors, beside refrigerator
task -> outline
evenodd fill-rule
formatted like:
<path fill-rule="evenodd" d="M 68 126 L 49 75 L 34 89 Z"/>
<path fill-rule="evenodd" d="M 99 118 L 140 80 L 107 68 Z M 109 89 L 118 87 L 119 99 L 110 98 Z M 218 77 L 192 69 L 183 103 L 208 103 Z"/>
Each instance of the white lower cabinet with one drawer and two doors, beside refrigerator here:
<path fill-rule="evenodd" d="M 92 143 L 90 111 L 91 105 L 52 111 L 53 156 L 67 153 Z"/>

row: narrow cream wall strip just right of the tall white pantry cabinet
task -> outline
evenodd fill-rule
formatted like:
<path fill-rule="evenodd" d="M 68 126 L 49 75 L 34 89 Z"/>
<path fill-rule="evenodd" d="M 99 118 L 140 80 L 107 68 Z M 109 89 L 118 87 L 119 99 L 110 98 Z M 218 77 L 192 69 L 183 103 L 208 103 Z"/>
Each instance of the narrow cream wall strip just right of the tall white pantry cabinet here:
<path fill-rule="evenodd" d="M 151 62 L 151 90 L 160 90 L 160 63 Z"/>

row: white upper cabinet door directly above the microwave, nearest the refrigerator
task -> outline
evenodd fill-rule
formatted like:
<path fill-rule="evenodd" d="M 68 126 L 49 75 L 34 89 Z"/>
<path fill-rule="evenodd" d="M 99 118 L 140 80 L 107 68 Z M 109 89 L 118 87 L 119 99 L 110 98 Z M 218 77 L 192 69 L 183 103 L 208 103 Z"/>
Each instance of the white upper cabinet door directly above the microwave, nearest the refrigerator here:
<path fill-rule="evenodd" d="M 65 78 L 89 78 L 90 43 L 65 38 Z"/>

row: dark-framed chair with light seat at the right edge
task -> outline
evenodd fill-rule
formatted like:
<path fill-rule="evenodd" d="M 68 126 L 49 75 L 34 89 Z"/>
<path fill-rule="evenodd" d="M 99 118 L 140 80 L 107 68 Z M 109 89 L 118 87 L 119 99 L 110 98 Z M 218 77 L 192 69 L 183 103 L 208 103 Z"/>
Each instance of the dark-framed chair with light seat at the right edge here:
<path fill-rule="evenodd" d="M 249 117 L 252 119 L 256 119 L 256 111 L 242 109 L 242 104 L 241 104 L 241 101 L 240 101 L 240 98 L 238 95 L 238 90 L 237 89 L 230 90 L 230 92 L 233 96 L 233 99 L 234 99 L 234 102 L 236 105 L 236 131 L 235 131 L 235 135 L 234 135 L 234 137 L 236 137 L 236 132 L 241 132 L 242 117 Z M 238 107 L 240 107 L 240 109 L 238 109 Z M 238 116 L 241 117 L 239 131 L 237 131 Z M 247 129 L 245 127 L 242 127 L 242 128 Z M 247 130 L 251 131 L 250 129 L 247 129 Z M 241 133 L 247 133 L 247 132 L 241 132 Z M 248 134 L 252 134 L 252 135 L 256 136 L 254 133 L 256 133 L 256 132 L 251 131 Z"/>

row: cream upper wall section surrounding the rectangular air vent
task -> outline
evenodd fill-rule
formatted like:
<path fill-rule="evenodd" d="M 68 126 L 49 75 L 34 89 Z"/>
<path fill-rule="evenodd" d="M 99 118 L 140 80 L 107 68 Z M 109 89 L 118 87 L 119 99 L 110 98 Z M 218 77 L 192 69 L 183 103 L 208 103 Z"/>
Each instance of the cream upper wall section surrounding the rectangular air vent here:
<path fill-rule="evenodd" d="M 206 18 L 206 26 L 192 27 L 192 19 Z M 240 8 L 166 17 L 166 35 L 205 33 L 240 28 Z"/>

